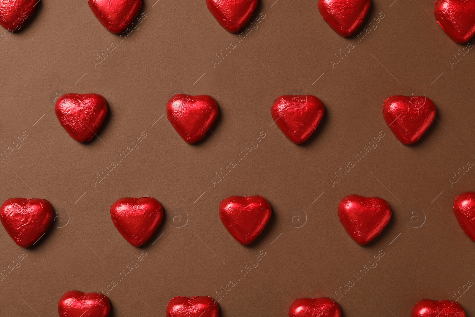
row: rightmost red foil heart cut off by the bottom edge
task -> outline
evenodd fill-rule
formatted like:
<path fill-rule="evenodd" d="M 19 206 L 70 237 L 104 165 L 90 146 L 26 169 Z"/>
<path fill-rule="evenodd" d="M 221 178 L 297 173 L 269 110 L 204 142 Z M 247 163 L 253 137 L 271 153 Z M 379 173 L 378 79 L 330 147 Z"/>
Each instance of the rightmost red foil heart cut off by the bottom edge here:
<path fill-rule="evenodd" d="M 411 317 L 466 317 L 466 314 L 454 300 L 422 299 L 412 308 Z"/>

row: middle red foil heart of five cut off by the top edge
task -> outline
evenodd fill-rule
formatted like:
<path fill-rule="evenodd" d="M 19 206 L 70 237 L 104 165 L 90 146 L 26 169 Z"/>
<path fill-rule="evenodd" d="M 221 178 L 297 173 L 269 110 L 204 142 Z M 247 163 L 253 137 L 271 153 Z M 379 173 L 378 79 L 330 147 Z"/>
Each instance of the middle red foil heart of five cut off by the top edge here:
<path fill-rule="evenodd" d="M 236 33 L 252 18 L 258 0 L 206 0 L 206 6 L 219 24 Z"/>

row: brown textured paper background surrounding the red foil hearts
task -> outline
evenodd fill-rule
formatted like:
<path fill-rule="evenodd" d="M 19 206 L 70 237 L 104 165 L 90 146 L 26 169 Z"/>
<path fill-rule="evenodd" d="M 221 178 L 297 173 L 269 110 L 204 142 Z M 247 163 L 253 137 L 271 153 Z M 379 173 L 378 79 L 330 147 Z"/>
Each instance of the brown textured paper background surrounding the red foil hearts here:
<path fill-rule="evenodd" d="M 316 2 L 261 0 L 255 18 L 265 18 L 239 42 L 204 0 L 144 0 L 146 18 L 121 42 L 85 0 L 41 1 L 31 22 L 0 45 L 1 151 L 28 133 L 0 163 L 0 200 L 47 199 L 61 228 L 51 227 L 0 282 L 0 315 L 57 316 L 65 291 L 105 289 L 142 250 L 140 266 L 106 293 L 114 317 L 162 317 L 180 295 L 219 299 L 216 292 L 261 250 L 258 266 L 219 301 L 221 316 L 284 317 L 296 298 L 337 299 L 335 292 L 380 250 L 377 267 L 339 300 L 343 316 L 410 316 L 420 299 L 455 298 L 475 281 L 475 244 L 452 211 L 458 194 L 475 189 L 475 170 L 449 182 L 475 161 L 475 51 L 451 68 L 465 46 L 437 25 L 433 1 L 373 0 L 364 26 L 380 12 L 384 18 L 361 42 L 330 29 Z M 95 67 L 96 54 L 113 42 L 117 48 Z M 236 48 L 213 68 L 215 54 L 231 42 Z M 350 42 L 355 47 L 332 68 L 334 54 Z M 54 99 L 66 92 L 107 99 L 111 115 L 100 139 L 79 144 L 59 125 Z M 180 138 L 164 115 L 175 92 L 218 101 L 214 135 L 195 145 Z M 287 140 L 270 115 L 277 96 L 294 92 L 326 106 L 324 126 L 303 145 Z M 381 107 L 388 96 L 412 93 L 434 101 L 437 121 L 406 146 Z M 96 173 L 142 131 L 140 147 L 95 187 Z M 261 131 L 258 147 L 213 188 L 215 173 Z M 380 131 L 377 148 L 332 187 L 333 173 Z M 338 202 L 350 193 L 382 197 L 393 210 L 367 246 L 357 245 L 337 217 Z M 256 242 L 241 246 L 221 224 L 218 204 L 256 194 L 271 203 L 272 220 Z M 121 197 L 142 196 L 163 204 L 165 220 L 135 248 L 114 228 L 109 208 Z M 412 211 L 418 216 L 411 222 Z M 0 240 L 4 270 L 24 249 L 3 229 Z M 475 287 L 458 302 L 474 317 Z"/>

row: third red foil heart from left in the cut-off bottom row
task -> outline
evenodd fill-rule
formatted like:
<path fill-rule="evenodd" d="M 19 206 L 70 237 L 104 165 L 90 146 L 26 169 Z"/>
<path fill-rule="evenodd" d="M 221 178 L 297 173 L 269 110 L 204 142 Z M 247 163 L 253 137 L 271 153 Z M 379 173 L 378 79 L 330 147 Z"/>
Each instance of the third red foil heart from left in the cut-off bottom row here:
<path fill-rule="evenodd" d="M 340 305 L 332 298 L 299 298 L 289 308 L 289 317 L 341 317 Z"/>

